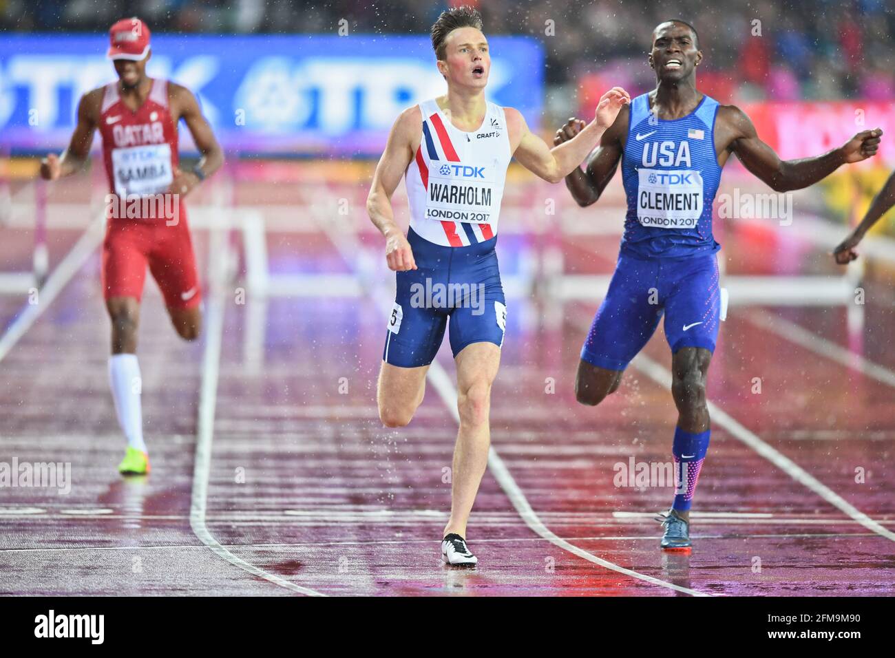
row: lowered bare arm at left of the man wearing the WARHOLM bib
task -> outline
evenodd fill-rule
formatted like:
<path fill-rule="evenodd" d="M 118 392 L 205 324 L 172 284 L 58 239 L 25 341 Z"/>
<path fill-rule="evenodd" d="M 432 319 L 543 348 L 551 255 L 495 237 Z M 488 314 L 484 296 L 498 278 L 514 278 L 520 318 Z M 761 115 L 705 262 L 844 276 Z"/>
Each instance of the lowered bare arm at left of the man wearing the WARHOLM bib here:
<path fill-rule="evenodd" d="M 386 150 L 379 158 L 370 193 L 367 195 L 367 214 L 370 221 L 386 238 L 386 261 L 388 269 L 402 271 L 416 269 L 413 251 L 404 231 L 395 223 L 395 213 L 391 207 L 391 195 L 395 193 L 401 176 L 413 158 L 413 135 L 422 134 L 422 115 L 416 107 L 406 109 L 397 117 L 395 125 L 388 133 Z"/>

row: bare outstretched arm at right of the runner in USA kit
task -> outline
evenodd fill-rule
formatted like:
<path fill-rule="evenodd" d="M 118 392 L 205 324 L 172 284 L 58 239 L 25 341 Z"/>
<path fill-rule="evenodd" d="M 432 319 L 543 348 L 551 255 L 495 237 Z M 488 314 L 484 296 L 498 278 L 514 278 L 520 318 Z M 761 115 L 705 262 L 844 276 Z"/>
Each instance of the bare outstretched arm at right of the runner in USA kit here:
<path fill-rule="evenodd" d="M 734 139 L 729 150 L 737 154 L 746 169 L 775 192 L 800 190 L 826 178 L 844 164 L 870 158 L 879 148 L 882 135 L 879 128 L 865 130 L 858 132 L 839 149 L 821 156 L 781 160 L 770 146 L 759 139 L 752 121 L 739 107 L 720 107 L 716 125 L 718 121 L 721 122 L 721 130 L 733 132 Z"/>

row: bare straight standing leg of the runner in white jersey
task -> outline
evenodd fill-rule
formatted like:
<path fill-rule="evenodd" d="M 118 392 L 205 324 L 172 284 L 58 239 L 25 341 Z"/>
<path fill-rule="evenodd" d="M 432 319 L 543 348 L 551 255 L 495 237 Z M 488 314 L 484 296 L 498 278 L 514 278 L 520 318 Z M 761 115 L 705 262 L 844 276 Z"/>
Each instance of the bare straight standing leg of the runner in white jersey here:
<path fill-rule="evenodd" d="M 456 406 L 460 414 L 460 430 L 454 447 L 446 535 L 466 536 L 466 522 L 488 466 L 491 384 L 497 377 L 499 365 L 500 348 L 493 343 L 473 343 L 456 355 Z"/>

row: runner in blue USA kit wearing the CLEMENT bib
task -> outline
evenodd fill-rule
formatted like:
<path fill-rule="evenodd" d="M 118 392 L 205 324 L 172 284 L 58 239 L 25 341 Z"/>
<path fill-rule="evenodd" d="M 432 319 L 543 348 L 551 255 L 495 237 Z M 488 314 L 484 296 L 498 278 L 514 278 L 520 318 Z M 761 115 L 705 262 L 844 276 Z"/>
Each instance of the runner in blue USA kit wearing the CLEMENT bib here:
<path fill-rule="evenodd" d="M 618 113 L 592 153 L 586 171 L 566 184 L 575 201 L 600 199 L 619 161 L 627 199 L 625 233 L 609 292 L 581 351 L 575 393 L 597 405 L 618 389 L 627 364 L 652 336 L 662 315 L 672 353 L 678 426 L 672 452 L 676 495 L 661 547 L 688 551 L 689 509 L 709 445 L 705 380 L 718 338 L 721 291 L 712 236 L 712 201 L 731 153 L 776 192 L 814 184 L 848 162 L 870 158 L 882 131 L 859 132 L 816 158 L 781 161 L 758 138 L 749 117 L 696 90 L 702 62 L 696 30 L 685 21 L 652 32 L 649 63 L 655 90 Z M 582 122 L 571 119 L 555 143 L 571 139 Z"/>

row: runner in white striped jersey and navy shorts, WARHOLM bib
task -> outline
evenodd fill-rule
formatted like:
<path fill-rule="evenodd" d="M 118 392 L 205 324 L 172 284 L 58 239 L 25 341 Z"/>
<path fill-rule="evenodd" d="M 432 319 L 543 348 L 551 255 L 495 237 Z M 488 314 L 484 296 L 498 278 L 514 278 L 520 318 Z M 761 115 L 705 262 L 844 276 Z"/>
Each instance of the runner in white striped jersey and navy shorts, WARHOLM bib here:
<path fill-rule="evenodd" d="M 457 7 L 442 13 L 431 38 L 447 95 L 398 117 L 367 200 L 397 282 L 379 372 L 379 418 L 388 427 L 410 423 L 449 319 L 460 428 L 441 554 L 448 564 L 472 566 L 477 559 L 465 543 L 466 522 L 488 463 L 490 388 L 507 320 L 494 251 L 507 165 L 515 157 L 558 183 L 630 98 L 618 87 L 609 90 L 593 121 L 551 150 L 516 109 L 485 100 L 490 55 L 478 12 Z M 402 175 L 411 211 L 406 235 L 390 201 Z"/>

